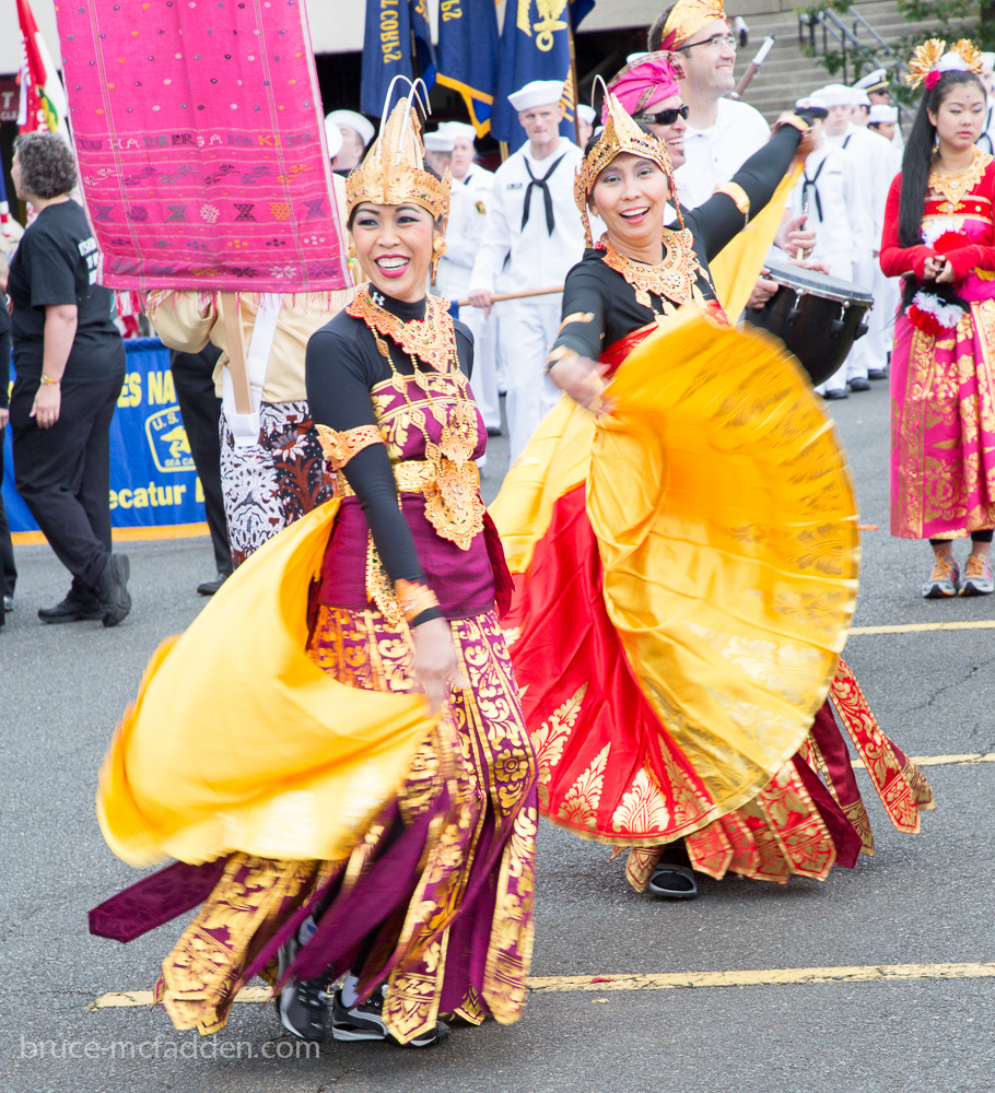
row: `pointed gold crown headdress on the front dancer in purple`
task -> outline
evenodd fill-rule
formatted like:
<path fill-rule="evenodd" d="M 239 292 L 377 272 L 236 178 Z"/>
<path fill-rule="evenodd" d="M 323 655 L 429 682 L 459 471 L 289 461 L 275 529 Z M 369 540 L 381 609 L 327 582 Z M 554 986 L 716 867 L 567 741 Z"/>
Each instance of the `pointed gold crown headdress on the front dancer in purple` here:
<path fill-rule="evenodd" d="M 402 80 L 410 91 L 397 101 L 390 116 L 390 98 L 394 85 Z M 349 214 L 361 201 L 374 204 L 417 204 L 428 210 L 435 220 L 449 211 L 449 168 L 443 178 L 436 178 L 425 171 L 425 149 L 421 140 L 421 125 L 415 104 L 422 106 L 428 116 L 428 92 L 419 95 L 419 84 L 406 77 L 395 77 L 387 89 L 384 113 L 381 116 L 381 131 L 362 164 L 346 179 L 346 203 Z"/>

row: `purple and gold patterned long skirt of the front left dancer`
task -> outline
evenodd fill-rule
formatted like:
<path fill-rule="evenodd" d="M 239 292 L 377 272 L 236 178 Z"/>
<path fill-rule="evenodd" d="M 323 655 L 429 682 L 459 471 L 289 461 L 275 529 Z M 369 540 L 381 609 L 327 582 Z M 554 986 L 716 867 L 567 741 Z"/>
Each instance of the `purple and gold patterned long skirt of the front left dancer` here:
<path fill-rule="evenodd" d="M 253 975 L 277 984 L 276 951 L 308 914 L 317 929 L 295 977 L 348 971 L 371 952 L 365 996 L 387 984 L 384 1018 L 407 1042 L 440 1013 L 511 1023 L 532 948 L 536 766 L 507 647 L 493 613 L 452 622 L 469 689 L 418 749 L 398 797 L 339 862 L 234 855 L 156 985 L 177 1027 L 222 1027 Z M 413 644 L 379 612 L 323 606 L 311 656 L 339 682 L 415 690 Z"/>

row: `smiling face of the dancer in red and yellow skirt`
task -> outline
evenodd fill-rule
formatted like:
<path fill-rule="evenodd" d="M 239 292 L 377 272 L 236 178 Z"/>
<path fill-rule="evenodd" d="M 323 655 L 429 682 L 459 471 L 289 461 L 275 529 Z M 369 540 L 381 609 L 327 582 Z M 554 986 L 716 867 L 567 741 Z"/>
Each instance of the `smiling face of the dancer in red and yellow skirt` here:
<path fill-rule="evenodd" d="M 620 152 L 601 171 L 590 191 L 590 208 L 613 242 L 646 246 L 663 238 L 670 183 L 659 164 Z"/>

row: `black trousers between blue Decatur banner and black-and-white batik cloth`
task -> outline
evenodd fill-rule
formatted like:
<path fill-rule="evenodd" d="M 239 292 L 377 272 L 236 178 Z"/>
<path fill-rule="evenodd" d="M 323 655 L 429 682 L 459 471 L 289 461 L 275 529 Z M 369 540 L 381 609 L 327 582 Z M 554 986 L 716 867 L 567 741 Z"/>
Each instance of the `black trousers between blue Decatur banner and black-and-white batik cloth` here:
<path fill-rule="evenodd" d="M 176 401 L 183 425 L 190 442 L 190 455 L 203 487 L 203 510 L 214 548 L 214 567 L 219 573 L 232 572 L 229 528 L 224 518 L 224 496 L 221 492 L 221 399 L 214 393 L 214 365 L 221 350 L 208 345 L 199 353 L 169 353 Z"/>

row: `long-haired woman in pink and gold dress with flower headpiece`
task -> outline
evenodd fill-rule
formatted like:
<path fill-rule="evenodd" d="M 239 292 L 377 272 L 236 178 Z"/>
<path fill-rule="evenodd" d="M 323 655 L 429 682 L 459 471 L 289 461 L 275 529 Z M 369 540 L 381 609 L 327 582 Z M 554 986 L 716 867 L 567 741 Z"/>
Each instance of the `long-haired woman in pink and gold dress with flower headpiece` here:
<path fill-rule="evenodd" d="M 891 185 L 881 269 L 902 277 L 891 363 L 891 533 L 928 539 L 926 599 L 987 596 L 995 528 L 995 160 L 974 142 L 986 99 L 969 42 L 910 63 L 925 94 Z M 970 537 L 963 569 L 953 540 Z"/>

